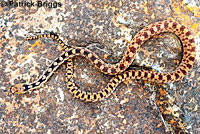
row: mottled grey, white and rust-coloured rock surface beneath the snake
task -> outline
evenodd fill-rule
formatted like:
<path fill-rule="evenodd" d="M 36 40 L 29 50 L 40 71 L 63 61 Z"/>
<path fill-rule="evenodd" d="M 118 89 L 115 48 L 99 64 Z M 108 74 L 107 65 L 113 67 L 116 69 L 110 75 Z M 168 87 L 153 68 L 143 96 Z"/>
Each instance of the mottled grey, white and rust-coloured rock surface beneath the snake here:
<path fill-rule="evenodd" d="M 165 133 L 166 127 L 152 102 L 151 90 L 156 85 L 148 86 L 143 81 L 125 81 L 109 98 L 85 103 L 74 99 L 67 90 L 63 64 L 38 90 L 12 96 L 5 92 L 13 84 L 36 80 L 61 53 L 52 39 L 24 42 L 26 37 L 54 32 L 68 45 L 87 47 L 105 62 L 116 63 L 137 32 L 160 20 L 176 20 L 195 36 L 194 68 L 182 81 L 167 84 L 166 91 L 180 107 L 188 131 L 200 133 L 200 3 L 48 2 L 52 4 L 43 3 L 42 7 L 6 6 L 6 2 L 1 2 L 0 133 Z M 142 45 L 133 64 L 168 72 L 181 62 L 181 52 L 179 39 L 164 33 Z M 111 78 L 85 58 L 75 57 L 74 65 L 74 80 L 81 90 L 101 90 Z"/>

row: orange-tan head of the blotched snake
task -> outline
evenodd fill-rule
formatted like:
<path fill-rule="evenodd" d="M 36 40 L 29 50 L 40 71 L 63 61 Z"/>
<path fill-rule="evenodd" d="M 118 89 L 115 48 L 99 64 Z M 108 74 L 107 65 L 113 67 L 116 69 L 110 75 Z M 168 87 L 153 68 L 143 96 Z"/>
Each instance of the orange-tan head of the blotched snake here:
<path fill-rule="evenodd" d="M 24 93 L 24 87 L 22 84 L 16 84 L 14 86 L 9 87 L 8 89 L 8 95 L 23 94 L 23 93 Z"/>

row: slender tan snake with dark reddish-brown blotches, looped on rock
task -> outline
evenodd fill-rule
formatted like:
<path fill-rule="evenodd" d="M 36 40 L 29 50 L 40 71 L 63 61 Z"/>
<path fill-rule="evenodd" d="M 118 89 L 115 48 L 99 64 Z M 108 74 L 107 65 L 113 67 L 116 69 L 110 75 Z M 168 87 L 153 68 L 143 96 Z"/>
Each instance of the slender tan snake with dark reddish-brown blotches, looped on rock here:
<path fill-rule="evenodd" d="M 125 71 L 130 64 L 133 62 L 135 54 L 139 51 L 141 44 L 150 39 L 152 36 L 164 33 L 172 32 L 176 34 L 183 44 L 183 58 L 180 65 L 170 73 L 152 72 L 148 70 L 129 70 Z M 61 46 L 67 47 L 57 35 L 40 35 L 36 37 L 28 38 L 28 40 L 38 39 L 40 37 L 50 37 L 56 39 Z M 71 58 L 74 56 L 83 56 L 91 61 L 96 68 L 98 68 L 104 74 L 115 75 L 107 86 L 96 93 L 89 93 L 86 91 L 79 90 L 75 84 L 70 81 L 72 74 L 72 61 Z M 71 47 L 65 49 L 65 51 L 57 57 L 51 65 L 44 71 L 41 77 L 33 83 L 27 84 L 16 84 L 9 88 L 8 93 L 22 94 L 29 90 L 40 87 L 44 84 L 53 72 L 62 64 L 64 61 L 69 60 L 68 63 L 68 82 L 67 87 L 69 91 L 76 97 L 87 102 L 95 102 L 108 97 L 113 90 L 124 80 L 128 79 L 143 79 L 156 81 L 158 83 L 174 82 L 181 80 L 193 67 L 195 62 L 195 41 L 192 33 L 184 26 L 174 21 L 160 21 L 153 23 L 144 29 L 142 29 L 132 42 L 130 43 L 125 55 L 116 64 L 108 64 L 101 60 L 95 53 L 87 48 L 83 47 Z M 125 71 L 125 72 L 124 72 Z M 121 73 L 123 72 L 123 73 Z"/>

